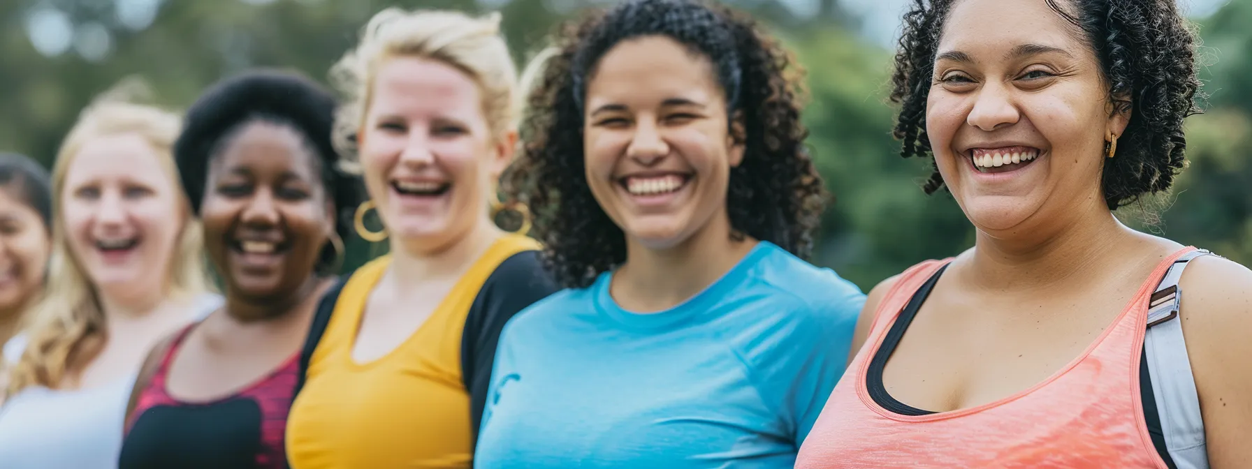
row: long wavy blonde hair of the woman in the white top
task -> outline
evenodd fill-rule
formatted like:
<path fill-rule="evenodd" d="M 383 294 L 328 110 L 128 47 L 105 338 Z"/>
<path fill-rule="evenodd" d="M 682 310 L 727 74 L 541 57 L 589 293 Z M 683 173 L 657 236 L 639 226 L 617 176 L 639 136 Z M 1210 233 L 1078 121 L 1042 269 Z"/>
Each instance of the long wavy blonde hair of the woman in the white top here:
<path fill-rule="evenodd" d="M 174 255 L 170 258 L 169 298 L 184 299 L 209 289 L 202 256 L 203 233 L 183 196 L 172 149 L 182 119 L 154 106 L 136 104 L 144 93 L 141 83 L 125 80 L 83 110 L 78 123 L 61 143 L 53 165 L 53 254 L 48 268 L 48 286 L 28 315 L 28 346 L 21 354 L 8 385 L 8 394 L 31 385 L 59 386 L 71 369 L 90 361 L 105 338 L 105 316 L 99 294 L 88 280 L 79 260 L 66 244 L 65 224 L 59 216 L 65 176 L 83 145 L 94 138 L 138 134 L 160 155 L 162 170 L 182 199 L 184 224 Z"/>

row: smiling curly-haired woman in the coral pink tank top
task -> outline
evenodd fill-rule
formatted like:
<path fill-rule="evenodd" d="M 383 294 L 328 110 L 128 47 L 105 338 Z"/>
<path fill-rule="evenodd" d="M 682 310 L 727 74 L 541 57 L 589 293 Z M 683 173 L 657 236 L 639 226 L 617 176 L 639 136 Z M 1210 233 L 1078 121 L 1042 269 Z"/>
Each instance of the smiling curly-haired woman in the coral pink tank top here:
<path fill-rule="evenodd" d="M 796 466 L 1247 466 L 1252 271 L 1112 213 L 1184 166 L 1199 81 L 1174 1 L 904 19 L 895 135 L 978 235 L 874 288 Z"/>

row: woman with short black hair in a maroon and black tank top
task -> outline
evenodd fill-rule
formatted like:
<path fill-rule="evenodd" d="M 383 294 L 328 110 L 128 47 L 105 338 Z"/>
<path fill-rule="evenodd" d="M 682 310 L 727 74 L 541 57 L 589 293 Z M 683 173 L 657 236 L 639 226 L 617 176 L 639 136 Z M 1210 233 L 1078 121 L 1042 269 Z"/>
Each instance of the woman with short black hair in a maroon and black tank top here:
<path fill-rule="evenodd" d="M 328 93 L 279 73 L 227 79 L 189 110 L 175 156 L 225 305 L 149 354 L 120 468 L 285 468 L 298 351 L 356 205 L 333 120 Z"/>

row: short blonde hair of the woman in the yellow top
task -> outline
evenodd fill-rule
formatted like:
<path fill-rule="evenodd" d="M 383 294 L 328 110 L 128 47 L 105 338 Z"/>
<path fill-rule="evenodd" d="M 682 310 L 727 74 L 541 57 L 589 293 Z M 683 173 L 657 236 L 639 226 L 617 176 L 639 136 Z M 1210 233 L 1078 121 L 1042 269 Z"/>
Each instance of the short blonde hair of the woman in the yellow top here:
<path fill-rule="evenodd" d="M 331 83 L 344 95 L 334 120 L 334 145 L 344 169 L 359 173 L 356 135 L 364 126 L 378 69 L 392 58 L 432 59 L 451 65 L 478 84 L 482 110 L 493 139 L 517 128 L 517 68 L 500 34 L 500 14 L 471 18 L 458 11 L 389 8 L 361 34 L 361 44 L 331 69 Z"/>

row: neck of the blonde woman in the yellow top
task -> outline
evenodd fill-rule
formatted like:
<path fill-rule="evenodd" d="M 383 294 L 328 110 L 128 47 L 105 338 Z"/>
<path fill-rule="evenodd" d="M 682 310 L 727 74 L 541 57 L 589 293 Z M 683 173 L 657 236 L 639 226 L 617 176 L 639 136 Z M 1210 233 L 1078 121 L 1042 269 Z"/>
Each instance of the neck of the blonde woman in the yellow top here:
<path fill-rule="evenodd" d="M 401 240 L 392 240 L 391 265 L 381 283 L 403 286 L 431 279 L 459 278 L 502 235 L 503 231 L 482 220 L 466 235 L 436 250 L 412 249 Z"/>

